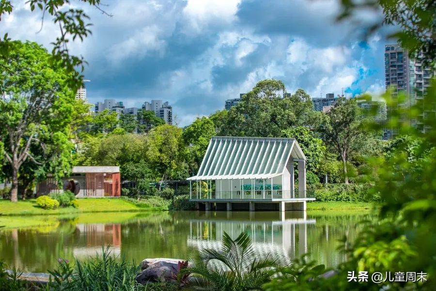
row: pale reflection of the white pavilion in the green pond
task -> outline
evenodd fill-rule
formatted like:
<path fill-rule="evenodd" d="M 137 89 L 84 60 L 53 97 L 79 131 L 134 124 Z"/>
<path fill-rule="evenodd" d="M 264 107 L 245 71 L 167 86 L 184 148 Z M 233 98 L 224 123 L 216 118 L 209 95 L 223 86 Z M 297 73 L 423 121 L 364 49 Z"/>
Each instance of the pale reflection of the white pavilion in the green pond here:
<path fill-rule="evenodd" d="M 212 216 L 213 215 L 213 216 Z M 293 212 L 206 212 L 204 218 L 189 223 L 187 244 L 198 250 L 219 249 L 223 231 L 235 239 L 245 231 L 257 253 L 278 253 L 294 259 L 307 253 L 306 211 Z"/>

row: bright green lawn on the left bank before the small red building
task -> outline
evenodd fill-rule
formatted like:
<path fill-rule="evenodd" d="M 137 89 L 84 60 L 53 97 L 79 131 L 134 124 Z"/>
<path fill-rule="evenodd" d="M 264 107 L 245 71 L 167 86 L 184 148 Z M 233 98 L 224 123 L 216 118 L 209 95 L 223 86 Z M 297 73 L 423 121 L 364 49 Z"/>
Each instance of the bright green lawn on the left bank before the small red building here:
<path fill-rule="evenodd" d="M 45 210 L 36 206 L 34 199 L 13 203 L 0 200 L 0 214 L 3 215 L 46 215 L 46 214 L 74 214 L 83 212 L 109 212 L 109 211 L 142 211 L 162 210 L 147 203 L 139 205 L 124 198 L 80 198 L 78 208 L 68 207 L 54 210 Z"/>

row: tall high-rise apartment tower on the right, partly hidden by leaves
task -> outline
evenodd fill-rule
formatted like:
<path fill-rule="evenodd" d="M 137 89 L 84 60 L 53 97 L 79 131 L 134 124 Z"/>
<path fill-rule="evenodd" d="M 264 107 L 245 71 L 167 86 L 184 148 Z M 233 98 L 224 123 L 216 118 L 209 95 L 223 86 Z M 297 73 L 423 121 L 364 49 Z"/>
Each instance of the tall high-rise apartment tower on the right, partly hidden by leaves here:
<path fill-rule="evenodd" d="M 410 58 L 407 50 L 398 44 L 385 46 L 386 88 L 390 88 L 391 97 L 394 100 L 401 92 L 409 97 L 406 103 L 398 104 L 398 106 L 410 108 L 422 99 L 422 94 L 430 86 L 433 73 L 432 70 L 423 67 L 422 54 L 418 54 L 416 58 Z M 391 109 L 387 108 L 388 119 Z M 416 119 L 411 119 L 410 125 L 425 130 Z M 394 138 L 396 135 L 395 129 L 386 129 L 386 133 L 388 138 Z"/>

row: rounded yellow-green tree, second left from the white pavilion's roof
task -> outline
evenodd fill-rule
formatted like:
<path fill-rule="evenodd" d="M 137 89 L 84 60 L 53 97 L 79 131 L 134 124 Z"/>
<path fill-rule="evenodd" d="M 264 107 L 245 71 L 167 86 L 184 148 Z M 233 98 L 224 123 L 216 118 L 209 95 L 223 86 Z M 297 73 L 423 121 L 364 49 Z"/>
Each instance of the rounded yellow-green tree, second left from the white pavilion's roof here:
<path fill-rule="evenodd" d="M 147 137 L 147 158 L 150 168 L 160 175 L 156 178 L 187 178 L 182 129 L 164 124 L 152 129 Z"/>

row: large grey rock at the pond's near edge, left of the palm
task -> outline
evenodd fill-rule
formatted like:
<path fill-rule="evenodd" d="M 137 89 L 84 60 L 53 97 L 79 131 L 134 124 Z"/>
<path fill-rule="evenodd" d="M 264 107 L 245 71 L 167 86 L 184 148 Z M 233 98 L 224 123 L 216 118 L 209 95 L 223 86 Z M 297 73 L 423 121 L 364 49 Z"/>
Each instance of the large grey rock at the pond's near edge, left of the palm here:
<path fill-rule="evenodd" d="M 168 281 L 177 283 L 177 275 L 179 274 L 179 262 L 183 259 L 144 259 L 141 262 L 140 275 L 136 277 L 136 281 L 142 285 L 147 282 Z"/>

